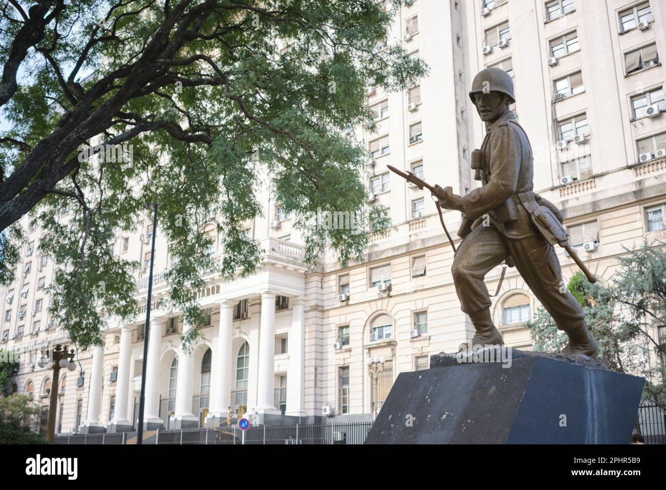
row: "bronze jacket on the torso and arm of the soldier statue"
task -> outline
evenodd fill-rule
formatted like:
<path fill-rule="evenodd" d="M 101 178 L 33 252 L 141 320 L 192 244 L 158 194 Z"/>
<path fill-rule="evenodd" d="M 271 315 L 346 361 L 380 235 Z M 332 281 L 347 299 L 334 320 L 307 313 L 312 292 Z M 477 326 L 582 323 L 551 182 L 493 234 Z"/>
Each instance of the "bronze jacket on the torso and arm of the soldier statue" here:
<path fill-rule="evenodd" d="M 486 126 L 481 151 L 483 185 L 462 197 L 465 216 L 474 220 L 488 213 L 497 223 L 503 223 L 507 235 L 515 238 L 538 233 L 517 197 L 528 193 L 534 199 L 534 165 L 529 140 L 513 111 Z"/>

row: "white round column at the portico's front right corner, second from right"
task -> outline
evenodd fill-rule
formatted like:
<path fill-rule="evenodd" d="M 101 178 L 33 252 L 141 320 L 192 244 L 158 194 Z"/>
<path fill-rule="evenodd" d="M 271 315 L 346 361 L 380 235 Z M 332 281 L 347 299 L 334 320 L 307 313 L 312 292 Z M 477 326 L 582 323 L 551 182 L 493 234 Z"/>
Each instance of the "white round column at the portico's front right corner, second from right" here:
<path fill-rule="evenodd" d="M 261 294 L 259 373 L 256 409 L 276 413 L 274 407 L 275 293 Z"/>

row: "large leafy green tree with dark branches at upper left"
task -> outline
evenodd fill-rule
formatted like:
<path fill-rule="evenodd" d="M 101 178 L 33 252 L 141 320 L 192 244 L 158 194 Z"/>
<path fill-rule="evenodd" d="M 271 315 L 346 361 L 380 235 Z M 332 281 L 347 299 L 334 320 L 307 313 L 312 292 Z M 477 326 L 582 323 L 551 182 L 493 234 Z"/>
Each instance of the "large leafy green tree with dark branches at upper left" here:
<path fill-rule="evenodd" d="M 159 206 L 177 263 L 167 308 L 202 320 L 200 271 L 252 273 L 260 245 L 242 232 L 270 187 L 306 235 L 306 261 L 325 246 L 360 261 L 366 233 L 308 226 L 316 209 L 364 210 L 373 130 L 364 87 L 405 89 L 427 68 L 382 48 L 402 1 L 44 0 L 2 7 L 0 279 L 10 281 L 25 213 L 59 264 L 51 312 L 81 348 L 100 344 L 109 317 L 133 319 L 137 263 L 117 237 Z M 387 8 L 388 10 L 384 10 Z M 263 181 L 260 170 L 268 169 Z M 378 207 L 364 230 L 386 229 Z M 224 257 L 206 253 L 206 223 L 224 231 Z M 9 247 L 9 248 L 8 248 Z M 12 261 L 14 259 L 14 261 Z M 196 330 L 192 335 L 196 335 Z M 186 342 L 188 339 L 184 339 Z"/>

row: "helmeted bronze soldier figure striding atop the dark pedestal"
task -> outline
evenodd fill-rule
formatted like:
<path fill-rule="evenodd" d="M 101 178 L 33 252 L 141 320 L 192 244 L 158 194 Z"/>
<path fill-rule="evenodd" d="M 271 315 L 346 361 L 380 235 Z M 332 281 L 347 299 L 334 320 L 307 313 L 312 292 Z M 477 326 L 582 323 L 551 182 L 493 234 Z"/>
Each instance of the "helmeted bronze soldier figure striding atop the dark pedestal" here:
<path fill-rule="evenodd" d="M 482 181 L 482 187 L 465 196 L 454 194 L 451 187 L 436 185 L 435 189 L 442 207 L 463 213 L 458 231 L 462 243 L 451 271 L 462 311 L 476 330 L 472 343 L 503 343 L 490 314 L 492 303 L 484 277 L 506 261 L 518 269 L 557 328 L 567 333 L 569 343 L 562 352 L 595 357 L 597 344 L 587 330 L 581 306 L 564 287 L 553 249 L 555 242 L 566 243 L 563 216 L 532 190 L 531 146 L 509 109 L 515 102 L 513 81 L 500 68 L 484 69 L 474 78 L 470 98 L 486 123 L 481 150 L 472 155 L 475 179 Z M 551 232 L 559 235 L 549 239 Z"/>

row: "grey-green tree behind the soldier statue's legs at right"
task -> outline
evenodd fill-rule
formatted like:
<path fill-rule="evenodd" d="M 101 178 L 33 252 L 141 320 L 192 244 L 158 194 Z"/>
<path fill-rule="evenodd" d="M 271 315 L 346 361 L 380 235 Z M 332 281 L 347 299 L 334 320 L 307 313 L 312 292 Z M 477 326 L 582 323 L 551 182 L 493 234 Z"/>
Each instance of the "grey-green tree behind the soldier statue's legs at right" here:
<path fill-rule="evenodd" d="M 666 250 L 663 244 L 626 249 L 608 287 L 590 284 L 575 273 L 567 288 L 585 312 L 585 322 L 599 345 L 599 358 L 610 369 L 645 377 L 643 398 L 666 401 L 666 344 L 655 339 L 655 327 L 666 325 Z M 539 307 L 529 329 L 537 351 L 559 351 L 567 336 Z M 656 353 L 656 362 L 652 354 Z"/>

